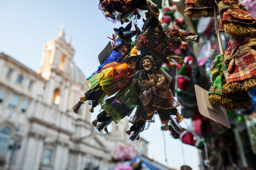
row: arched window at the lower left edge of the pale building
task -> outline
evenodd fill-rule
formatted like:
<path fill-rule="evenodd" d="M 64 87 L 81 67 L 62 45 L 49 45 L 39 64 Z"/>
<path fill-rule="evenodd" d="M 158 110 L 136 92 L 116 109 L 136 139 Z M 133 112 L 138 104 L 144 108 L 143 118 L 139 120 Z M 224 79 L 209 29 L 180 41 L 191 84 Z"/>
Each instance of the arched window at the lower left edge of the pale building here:
<path fill-rule="evenodd" d="M 7 127 L 3 127 L 0 130 L 0 156 L 1 157 L 5 157 L 8 150 L 10 139 L 11 139 L 11 130 L 9 130 Z"/>

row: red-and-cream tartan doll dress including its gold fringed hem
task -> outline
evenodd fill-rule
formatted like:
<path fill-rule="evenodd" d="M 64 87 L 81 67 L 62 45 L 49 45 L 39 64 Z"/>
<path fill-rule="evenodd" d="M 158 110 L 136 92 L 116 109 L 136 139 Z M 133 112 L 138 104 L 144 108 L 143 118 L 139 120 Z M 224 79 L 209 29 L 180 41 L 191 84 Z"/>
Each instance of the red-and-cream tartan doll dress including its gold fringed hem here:
<path fill-rule="evenodd" d="M 224 62 L 229 89 L 249 91 L 256 87 L 256 39 L 231 39 Z"/>

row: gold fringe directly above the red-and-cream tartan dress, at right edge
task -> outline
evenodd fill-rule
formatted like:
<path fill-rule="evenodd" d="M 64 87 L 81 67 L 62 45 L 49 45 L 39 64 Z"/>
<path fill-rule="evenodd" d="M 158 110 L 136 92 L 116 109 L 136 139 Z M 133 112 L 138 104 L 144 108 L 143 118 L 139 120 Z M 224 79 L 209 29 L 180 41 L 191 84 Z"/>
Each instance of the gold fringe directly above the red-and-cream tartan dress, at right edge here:
<path fill-rule="evenodd" d="M 232 38 L 256 38 L 256 24 L 247 26 L 246 24 L 227 22 L 223 23 L 223 29 L 225 33 L 231 35 Z"/>

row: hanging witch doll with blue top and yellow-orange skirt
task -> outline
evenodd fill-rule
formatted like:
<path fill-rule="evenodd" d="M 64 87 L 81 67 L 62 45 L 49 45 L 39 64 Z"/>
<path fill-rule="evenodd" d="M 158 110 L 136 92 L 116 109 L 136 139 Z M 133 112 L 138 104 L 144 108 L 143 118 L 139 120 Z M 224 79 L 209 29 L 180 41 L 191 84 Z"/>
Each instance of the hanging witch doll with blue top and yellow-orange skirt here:
<path fill-rule="evenodd" d="M 113 84 L 113 77 L 118 76 L 116 72 L 120 71 L 120 63 L 124 62 L 125 55 L 129 54 L 130 51 L 131 44 L 126 43 L 124 40 L 118 38 L 115 39 L 114 49 L 106 57 L 104 62 L 101 63 L 101 65 L 98 67 L 98 70 L 86 79 L 86 83 L 90 89 L 85 93 L 84 97 L 81 97 L 79 102 L 74 105 L 72 108 L 74 113 L 79 114 L 81 105 L 84 104 L 85 101 L 91 104 L 91 108 L 89 110 L 91 113 L 93 113 L 94 108 L 99 104 L 99 99 L 103 97 L 103 93 L 105 92 L 106 94 L 106 90 L 109 92 L 112 90 L 112 94 L 114 94 L 114 91 L 117 90 L 117 87 L 113 86 L 112 89 L 109 87 Z M 131 73 L 134 71 L 134 68 L 125 65 L 123 70 Z M 119 78 L 124 77 L 119 76 Z M 114 83 L 117 83 L 117 80 Z"/>

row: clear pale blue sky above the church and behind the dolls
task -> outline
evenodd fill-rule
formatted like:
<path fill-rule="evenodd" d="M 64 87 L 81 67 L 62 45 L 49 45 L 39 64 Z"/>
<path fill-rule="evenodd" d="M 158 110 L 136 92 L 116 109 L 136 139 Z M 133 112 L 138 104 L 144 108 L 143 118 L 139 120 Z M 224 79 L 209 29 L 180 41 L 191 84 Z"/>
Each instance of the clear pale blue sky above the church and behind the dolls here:
<path fill-rule="evenodd" d="M 119 28 L 121 25 L 106 20 L 98 9 L 98 2 L 0 0 L 0 52 L 37 71 L 43 45 L 58 36 L 64 25 L 65 38 L 71 38 L 71 45 L 75 49 L 74 63 L 89 76 L 99 66 L 98 54 L 109 42 L 107 36 L 111 37 L 113 28 Z M 141 28 L 142 24 L 138 26 Z M 187 122 L 190 124 L 189 120 Z M 186 127 L 184 123 L 181 125 Z M 160 126 L 160 120 L 156 118 L 156 123 L 151 124 L 150 128 L 141 134 L 141 137 L 150 142 L 149 157 L 171 168 L 179 169 L 185 160 L 193 169 L 199 169 L 196 148 L 182 145 L 180 140 L 172 139 L 169 132 L 164 132 L 168 163 L 165 162 Z"/>

